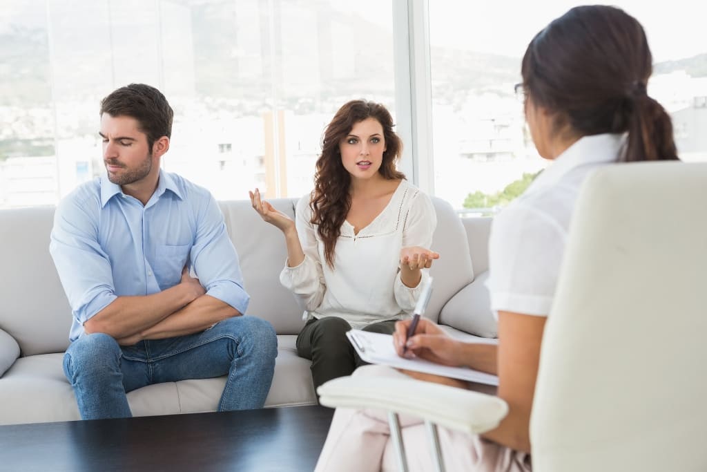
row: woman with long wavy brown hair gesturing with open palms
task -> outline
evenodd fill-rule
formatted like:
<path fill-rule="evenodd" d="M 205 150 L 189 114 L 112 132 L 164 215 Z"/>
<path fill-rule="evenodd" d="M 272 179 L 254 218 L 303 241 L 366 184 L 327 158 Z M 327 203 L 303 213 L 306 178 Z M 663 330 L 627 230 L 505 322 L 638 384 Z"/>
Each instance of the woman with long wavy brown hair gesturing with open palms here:
<path fill-rule="evenodd" d="M 392 128 L 379 103 L 342 106 L 325 129 L 315 189 L 298 202 L 295 221 L 249 192 L 262 219 L 285 236 L 280 281 L 305 309 L 297 351 L 312 360 L 315 391 L 362 364 L 346 331 L 392 333 L 414 309 L 423 269 L 439 257 L 429 250 L 435 210 L 396 170 L 402 142 Z"/>

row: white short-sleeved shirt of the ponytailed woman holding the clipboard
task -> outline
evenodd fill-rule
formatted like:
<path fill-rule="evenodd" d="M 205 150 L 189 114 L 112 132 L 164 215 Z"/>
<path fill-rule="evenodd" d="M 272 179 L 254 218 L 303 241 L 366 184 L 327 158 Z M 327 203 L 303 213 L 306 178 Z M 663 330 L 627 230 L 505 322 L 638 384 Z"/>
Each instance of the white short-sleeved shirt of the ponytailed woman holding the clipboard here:
<path fill-rule="evenodd" d="M 575 200 L 587 175 L 619 159 L 625 135 L 579 139 L 558 156 L 491 225 L 491 309 L 547 316 Z"/>

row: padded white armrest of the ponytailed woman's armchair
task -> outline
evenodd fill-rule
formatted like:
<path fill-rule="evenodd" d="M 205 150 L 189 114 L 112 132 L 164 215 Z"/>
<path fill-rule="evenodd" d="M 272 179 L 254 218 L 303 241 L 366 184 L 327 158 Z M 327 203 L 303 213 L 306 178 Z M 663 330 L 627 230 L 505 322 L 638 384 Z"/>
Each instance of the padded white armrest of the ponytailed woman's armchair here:
<path fill-rule="evenodd" d="M 332 408 L 378 408 L 413 415 L 451 430 L 479 434 L 492 430 L 508 413 L 496 396 L 416 379 L 346 376 L 317 389 Z"/>

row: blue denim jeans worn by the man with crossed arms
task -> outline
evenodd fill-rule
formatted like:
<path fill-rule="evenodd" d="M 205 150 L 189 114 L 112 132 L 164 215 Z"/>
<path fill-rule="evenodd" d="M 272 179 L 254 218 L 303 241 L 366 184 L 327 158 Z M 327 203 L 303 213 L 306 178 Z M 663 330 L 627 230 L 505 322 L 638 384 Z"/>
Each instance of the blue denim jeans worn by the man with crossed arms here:
<path fill-rule="evenodd" d="M 234 316 L 201 333 L 120 346 L 110 335 L 83 335 L 64 354 L 84 420 L 132 416 L 126 393 L 160 382 L 228 374 L 218 411 L 262 408 L 277 357 L 275 330 L 254 316 Z"/>

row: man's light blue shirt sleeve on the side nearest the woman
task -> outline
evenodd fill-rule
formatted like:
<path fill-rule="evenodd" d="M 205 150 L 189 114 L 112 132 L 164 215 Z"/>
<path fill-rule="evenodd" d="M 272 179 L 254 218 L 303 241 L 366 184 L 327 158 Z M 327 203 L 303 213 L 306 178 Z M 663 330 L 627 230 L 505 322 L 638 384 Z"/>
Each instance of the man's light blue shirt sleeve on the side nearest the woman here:
<path fill-rule="evenodd" d="M 221 209 L 210 194 L 199 209 L 190 257 L 206 294 L 245 314 L 250 296 L 243 287 L 238 253 L 228 237 Z"/>

